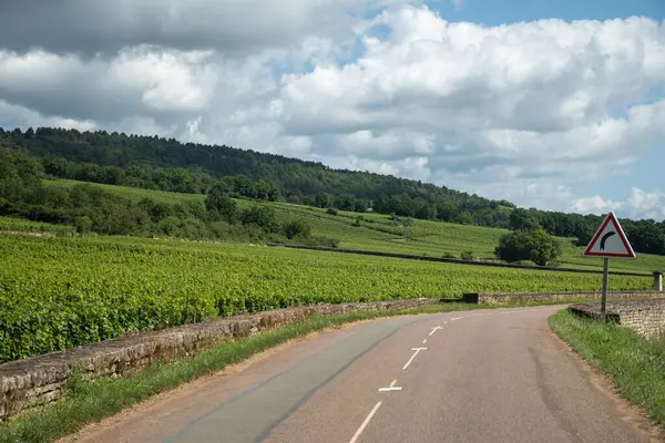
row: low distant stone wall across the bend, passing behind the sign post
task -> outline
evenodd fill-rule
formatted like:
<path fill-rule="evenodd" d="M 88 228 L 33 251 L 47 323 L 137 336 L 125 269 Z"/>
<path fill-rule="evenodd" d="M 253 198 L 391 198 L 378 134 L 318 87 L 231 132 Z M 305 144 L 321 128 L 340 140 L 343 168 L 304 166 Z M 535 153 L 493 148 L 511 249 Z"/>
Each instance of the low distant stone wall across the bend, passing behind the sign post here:
<path fill-rule="evenodd" d="M 659 291 L 622 291 L 608 292 L 610 299 L 651 299 L 665 297 Z M 462 301 L 473 305 L 507 305 L 523 303 L 528 301 L 556 301 L 556 300 L 594 300 L 601 299 L 601 292 L 467 292 Z"/>

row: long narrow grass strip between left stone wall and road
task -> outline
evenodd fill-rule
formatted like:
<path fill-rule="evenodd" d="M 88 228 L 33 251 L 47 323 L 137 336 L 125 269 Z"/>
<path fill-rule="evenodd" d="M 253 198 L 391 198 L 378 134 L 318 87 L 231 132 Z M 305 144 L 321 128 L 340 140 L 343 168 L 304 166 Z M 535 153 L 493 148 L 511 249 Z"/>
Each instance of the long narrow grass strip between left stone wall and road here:
<path fill-rule="evenodd" d="M 576 301 L 576 300 L 574 300 Z M 84 381 L 73 377 L 65 400 L 0 423 L 0 443 L 52 442 L 100 421 L 160 392 L 176 388 L 196 378 L 212 374 L 238 363 L 268 348 L 321 329 L 359 320 L 401 315 L 452 312 L 472 309 L 511 308 L 560 305 L 572 301 L 529 302 L 521 305 L 467 305 L 460 302 L 430 305 L 423 308 L 383 311 L 359 311 L 344 316 L 316 316 L 306 321 L 242 338 L 201 351 L 194 357 L 155 363 L 120 379 L 100 378 Z"/>

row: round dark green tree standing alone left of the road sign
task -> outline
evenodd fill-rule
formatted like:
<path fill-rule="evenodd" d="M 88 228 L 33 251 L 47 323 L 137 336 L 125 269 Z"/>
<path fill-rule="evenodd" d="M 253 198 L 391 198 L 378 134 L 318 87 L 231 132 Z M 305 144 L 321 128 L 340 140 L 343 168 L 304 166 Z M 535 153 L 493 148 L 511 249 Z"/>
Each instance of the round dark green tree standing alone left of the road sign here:
<path fill-rule="evenodd" d="M 532 260 L 539 266 L 548 265 L 560 257 L 561 253 L 559 241 L 543 229 L 505 234 L 494 249 L 497 257 L 508 262 Z"/>

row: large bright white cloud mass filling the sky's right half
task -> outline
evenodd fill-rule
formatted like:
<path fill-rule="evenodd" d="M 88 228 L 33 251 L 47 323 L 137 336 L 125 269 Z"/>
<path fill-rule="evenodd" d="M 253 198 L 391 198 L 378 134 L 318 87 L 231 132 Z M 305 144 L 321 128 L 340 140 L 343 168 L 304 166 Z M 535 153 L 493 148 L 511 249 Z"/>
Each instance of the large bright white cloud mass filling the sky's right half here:
<path fill-rule="evenodd" d="M 320 148 L 375 161 L 420 154 L 400 141 L 420 134 L 439 183 L 554 207 L 573 195 L 529 189 L 598 179 L 665 134 L 665 101 L 637 104 L 665 84 L 665 32 L 648 19 L 483 28 L 408 7 L 375 24 L 391 33 L 367 38 L 356 63 L 284 78 L 287 131 L 337 134 Z"/>

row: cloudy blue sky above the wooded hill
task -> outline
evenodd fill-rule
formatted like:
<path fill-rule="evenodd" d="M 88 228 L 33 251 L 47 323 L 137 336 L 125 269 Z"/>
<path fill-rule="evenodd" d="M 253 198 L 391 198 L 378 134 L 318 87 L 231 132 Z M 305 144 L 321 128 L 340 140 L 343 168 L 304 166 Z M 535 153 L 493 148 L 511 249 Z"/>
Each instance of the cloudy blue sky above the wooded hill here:
<path fill-rule="evenodd" d="M 158 134 L 665 219 L 665 0 L 23 0 L 0 126 Z"/>

